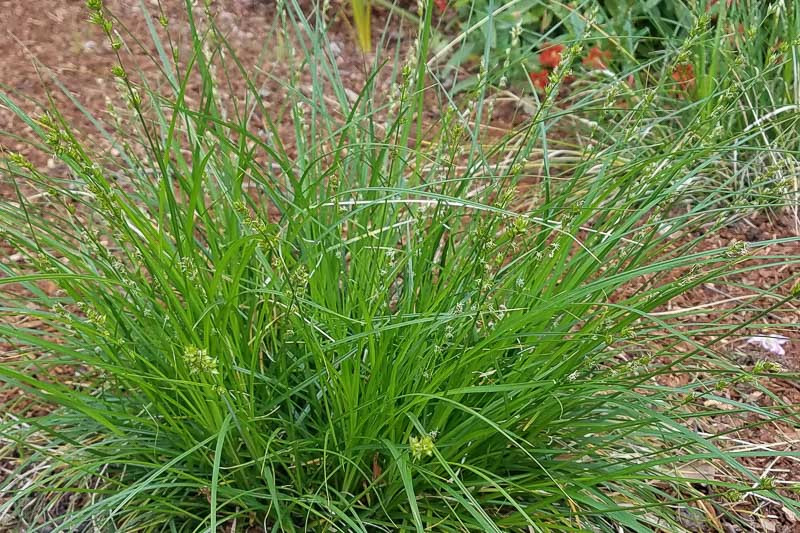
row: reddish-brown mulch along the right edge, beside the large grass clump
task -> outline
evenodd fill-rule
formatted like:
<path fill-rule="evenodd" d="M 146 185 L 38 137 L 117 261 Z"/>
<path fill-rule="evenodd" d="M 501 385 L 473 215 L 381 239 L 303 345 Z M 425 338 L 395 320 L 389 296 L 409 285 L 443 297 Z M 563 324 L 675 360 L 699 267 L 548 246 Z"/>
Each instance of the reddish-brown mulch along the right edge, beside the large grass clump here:
<path fill-rule="evenodd" d="M 759 241 L 793 239 L 797 236 L 797 221 L 786 212 L 780 214 L 748 217 L 723 228 L 718 234 L 704 238 L 701 250 L 725 248 L 734 240 L 755 243 Z M 699 321 L 715 322 L 738 326 L 749 320 L 754 324 L 769 326 L 769 335 L 783 335 L 788 342 L 782 346 L 785 353 L 772 353 L 763 347 L 748 342 L 754 336 L 766 334 L 758 327 L 747 327 L 734 331 L 715 343 L 714 350 L 719 355 L 740 365 L 744 369 L 752 369 L 760 360 L 774 361 L 781 365 L 787 373 L 786 378 L 769 378 L 761 380 L 767 391 L 750 384 L 740 384 L 715 392 L 721 398 L 740 401 L 764 408 L 776 408 L 779 405 L 792 406 L 796 413 L 800 406 L 800 381 L 796 379 L 800 373 L 800 307 L 796 298 L 791 298 L 792 287 L 800 275 L 800 242 L 789 241 L 774 243 L 754 249 L 738 266 L 755 267 L 745 272 L 731 274 L 723 278 L 725 283 L 706 283 L 673 299 L 664 312 L 679 311 L 698 306 L 708 306 L 699 317 L 693 315 L 692 327 Z M 770 265 L 770 266 L 767 266 Z M 774 293 L 786 296 L 788 301 L 775 307 L 773 299 L 757 296 L 758 289 L 770 289 Z M 719 303 L 716 303 L 719 302 Z M 713 305 L 709 305 L 713 304 Z M 746 304 L 746 305 L 745 305 Z M 767 312 L 769 311 L 769 312 Z M 702 324 L 701 324 L 702 326 Z M 679 328 L 691 331 L 689 328 Z M 711 340 L 722 332 L 704 332 L 702 336 L 693 335 L 698 340 Z M 685 376 L 681 376 L 685 380 Z M 673 378 L 680 383 L 681 378 Z M 685 381 L 684 381 L 685 383 Z M 774 395 L 775 398 L 771 398 Z M 713 399 L 701 398 L 698 409 L 729 409 L 729 405 Z M 723 447 L 749 449 L 769 449 L 779 452 L 800 452 L 800 418 L 795 414 L 781 422 L 763 424 L 756 416 L 742 417 L 716 416 L 700 420 L 694 427 L 696 431 L 709 434 L 726 433 Z M 753 473 L 761 477 L 775 480 L 779 492 L 792 500 L 798 501 L 796 490 L 800 487 L 800 458 L 745 458 Z M 750 496 L 747 501 L 737 504 L 739 511 L 753 511 L 750 521 L 751 531 L 796 532 L 800 531 L 800 517 L 778 503 L 770 503 L 764 499 Z M 739 531 L 729 529 L 726 531 Z M 732 527 L 732 526 L 731 526 Z"/>

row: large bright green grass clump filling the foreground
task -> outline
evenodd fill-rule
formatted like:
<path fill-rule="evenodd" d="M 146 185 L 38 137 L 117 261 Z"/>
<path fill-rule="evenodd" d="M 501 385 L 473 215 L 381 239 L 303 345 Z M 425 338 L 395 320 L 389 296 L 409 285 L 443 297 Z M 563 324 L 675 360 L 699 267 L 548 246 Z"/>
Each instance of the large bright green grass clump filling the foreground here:
<path fill-rule="evenodd" d="M 466 103 L 437 91 L 430 6 L 407 57 L 384 67 L 378 54 L 353 97 L 323 21 L 287 2 L 280 112 L 259 97 L 269 74 L 236 58 L 210 9 L 188 10 L 192 47 L 177 63 L 148 18 L 156 90 L 128 68 L 121 23 L 90 8 L 128 101 L 117 126 L 95 120 L 118 156 L 58 109 L 30 114 L 0 95 L 66 169 L 22 154 L 2 167 L 17 198 L 0 204 L 0 228 L 22 259 L 0 266 L 2 313 L 42 325 L 0 324 L 15 355 L 0 379 L 52 411 L 3 417 L 16 470 L 0 519 L 29 531 L 681 531 L 706 519 L 700 508 L 735 521 L 733 494 L 794 508 L 742 462 L 778 452 L 690 427 L 718 414 L 703 400 L 749 425 L 793 415 L 723 394 L 779 371 L 721 356 L 747 324 L 695 339 L 655 313 L 724 286 L 769 244 L 697 250 L 719 226 L 718 198 L 682 202 L 686 184 L 730 144 L 668 141 L 638 161 L 624 157 L 631 133 L 556 173 L 553 132 L 586 127 L 580 104 L 556 99 L 580 43 L 527 120 L 488 142 L 492 73 Z M 235 106 L 221 95 L 232 78 L 246 87 Z M 50 375 L 65 367 L 74 380 Z"/>

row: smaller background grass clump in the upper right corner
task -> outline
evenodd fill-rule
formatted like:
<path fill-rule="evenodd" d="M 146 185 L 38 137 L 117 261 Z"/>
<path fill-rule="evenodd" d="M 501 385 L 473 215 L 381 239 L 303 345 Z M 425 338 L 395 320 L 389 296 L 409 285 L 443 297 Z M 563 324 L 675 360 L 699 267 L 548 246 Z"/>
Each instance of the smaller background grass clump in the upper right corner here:
<path fill-rule="evenodd" d="M 716 115 L 718 128 L 741 136 L 744 145 L 762 148 L 744 149 L 738 156 L 737 164 L 748 170 L 736 186 L 781 205 L 796 190 L 792 176 L 800 150 L 800 5 L 735 2 L 721 9 L 722 4 L 707 33 L 691 47 L 697 78 L 691 96 L 700 104 L 701 120 Z M 722 90 L 731 102 L 724 114 L 714 109 Z"/>

